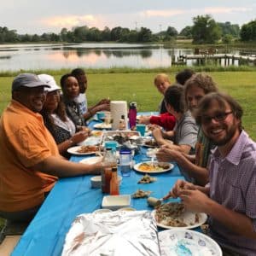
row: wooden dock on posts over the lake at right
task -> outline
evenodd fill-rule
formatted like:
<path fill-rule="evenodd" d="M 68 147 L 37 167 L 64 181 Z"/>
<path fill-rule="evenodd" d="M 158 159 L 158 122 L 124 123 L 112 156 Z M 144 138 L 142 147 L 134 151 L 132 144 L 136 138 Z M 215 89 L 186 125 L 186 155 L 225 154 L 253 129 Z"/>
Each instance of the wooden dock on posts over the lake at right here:
<path fill-rule="evenodd" d="M 222 63 L 224 60 L 224 66 L 235 65 L 235 61 L 238 61 L 238 64 L 242 63 L 253 63 L 256 65 L 256 55 L 230 55 L 230 54 L 199 54 L 199 55 L 180 55 L 178 61 L 187 63 L 188 60 L 196 60 L 198 64 L 205 64 L 208 60 L 215 61 L 216 64 Z"/>

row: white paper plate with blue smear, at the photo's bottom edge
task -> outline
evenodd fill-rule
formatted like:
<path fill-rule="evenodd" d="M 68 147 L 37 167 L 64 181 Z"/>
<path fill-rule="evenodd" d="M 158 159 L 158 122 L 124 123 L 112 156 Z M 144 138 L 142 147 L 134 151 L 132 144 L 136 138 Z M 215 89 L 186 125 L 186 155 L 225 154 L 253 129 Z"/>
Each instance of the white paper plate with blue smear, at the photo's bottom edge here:
<path fill-rule="evenodd" d="M 165 230 L 158 238 L 162 256 L 222 256 L 216 241 L 193 230 Z"/>

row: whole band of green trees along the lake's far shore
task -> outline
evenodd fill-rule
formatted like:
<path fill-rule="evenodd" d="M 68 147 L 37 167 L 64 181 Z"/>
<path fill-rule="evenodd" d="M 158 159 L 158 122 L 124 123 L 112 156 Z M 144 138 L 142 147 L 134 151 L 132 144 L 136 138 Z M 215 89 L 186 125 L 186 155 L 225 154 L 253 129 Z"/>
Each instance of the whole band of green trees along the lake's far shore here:
<path fill-rule="evenodd" d="M 256 41 L 256 20 L 241 26 L 231 24 L 229 21 L 216 22 L 210 15 L 198 15 L 193 18 L 193 26 L 185 26 L 181 32 L 173 26 L 168 26 L 166 31 L 153 33 L 147 27 L 129 29 L 116 26 L 113 29 L 105 26 L 103 30 L 97 27 L 75 26 L 71 30 L 62 28 L 61 32 L 38 34 L 18 34 L 16 30 L 9 30 L 0 26 L 0 44 L 26 43 L 26 42 L 121 42 L 121 43 L 150 43 L 172 41 L 177 38 L 192 39 L 194 44 L 215 44 L 222 41 L 229 44 L 234 40 Z"/>

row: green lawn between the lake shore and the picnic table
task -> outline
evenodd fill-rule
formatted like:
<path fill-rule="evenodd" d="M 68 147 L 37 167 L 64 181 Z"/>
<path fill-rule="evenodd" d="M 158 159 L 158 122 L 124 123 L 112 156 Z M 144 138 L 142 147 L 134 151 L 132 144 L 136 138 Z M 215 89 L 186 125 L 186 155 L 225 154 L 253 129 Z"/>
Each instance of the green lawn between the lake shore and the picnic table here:
<path fill-rule="evenodd" d="M 151 111 L 158 108 L 160 94 L 153 85 L 154 76 L 159 70 L 135 73 L 88 73 L 89 87 L 87 97 L 89 105 L 102 97 L 112 100 L 136 101 L 138 111 Z M 174 81 L 176 71 L 172 70 L 171 80 Z M 256 140 L 256 72 L 207 72 L 224 90 L 234 96 L 244 109 L 243 125 L 246 131 Z M 53 74 L 53 73 L 52 73 Z M 59 83 L 61 74 L 55 75 Z M 0 113 L 10 100 L 10 88 L 13 77 L 0 77 Z"/>

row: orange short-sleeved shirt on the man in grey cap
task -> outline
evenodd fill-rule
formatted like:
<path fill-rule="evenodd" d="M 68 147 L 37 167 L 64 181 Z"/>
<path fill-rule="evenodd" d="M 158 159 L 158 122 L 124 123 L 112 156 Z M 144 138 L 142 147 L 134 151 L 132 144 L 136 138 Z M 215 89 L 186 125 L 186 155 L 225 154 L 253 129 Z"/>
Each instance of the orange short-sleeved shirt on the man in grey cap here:
<path fill-rule="evenodd" d="M 0 211 L 22 211 L 44 201 L 57 177 L 32 166 L 51 155 L 60 156 L 41 114 L 12 100 L 0 121 Z"/>

